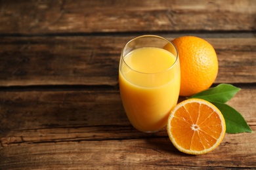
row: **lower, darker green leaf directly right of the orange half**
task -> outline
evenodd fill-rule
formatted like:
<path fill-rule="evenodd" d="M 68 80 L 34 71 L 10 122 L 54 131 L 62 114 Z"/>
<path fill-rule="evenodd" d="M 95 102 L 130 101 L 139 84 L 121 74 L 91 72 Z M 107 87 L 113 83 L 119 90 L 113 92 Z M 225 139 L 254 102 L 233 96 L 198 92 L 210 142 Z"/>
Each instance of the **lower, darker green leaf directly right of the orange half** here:
<path fill-rule="evenodd" d="M 226 122 L 226 133 L 253 133 L 242 114 L 240 114 L 240 112 L 238 112 L 236 109 L 224 103 L 211 103 L 213 103 L 213 105 L 215 105 L 223 114 Z"/>

